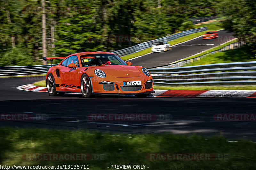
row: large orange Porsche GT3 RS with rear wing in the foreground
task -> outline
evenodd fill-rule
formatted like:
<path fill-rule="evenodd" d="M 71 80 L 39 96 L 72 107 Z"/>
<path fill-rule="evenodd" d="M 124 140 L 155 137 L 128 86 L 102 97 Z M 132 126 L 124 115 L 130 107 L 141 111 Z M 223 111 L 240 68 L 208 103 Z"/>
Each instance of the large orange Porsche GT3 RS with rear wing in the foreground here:
<path fill-rule="evenodd" d="M 82 52 L 67 57 L 43 57 L 44 60 L 64 58 L 46 75 L 50 96 L 65 92 L 91 95 L 133 94 L 147 97 L 154 93 L 153 79 L 145 67 L 132 66 L 118 55 L 108 52 Z"/>

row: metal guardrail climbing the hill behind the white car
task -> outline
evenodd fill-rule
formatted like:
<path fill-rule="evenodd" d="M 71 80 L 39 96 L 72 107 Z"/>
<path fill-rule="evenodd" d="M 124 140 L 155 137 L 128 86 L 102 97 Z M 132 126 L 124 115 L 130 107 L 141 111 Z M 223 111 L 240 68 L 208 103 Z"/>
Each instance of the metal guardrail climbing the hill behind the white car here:
<path fill-rule="evenodd" d="M 124 49 L 121 49 L 121 50 L 118 50 L 118 51 L 114 51 L 113 53 L 115 53 L 116 55 L 119 55 L 121 57 L 121 56 L 124 56 L 124 55 L 129 55 L 129 54 L 132 54 L 132 53 L 139 52 L 143 49 L 150 48 L 150 47 L 152 47 L 152 45 L 154 45 L 158 42 L 171 41 L 171 40 L 174 40 L 174 39 L 177 39 L 177 38 L 180 38 L 180 37 L 192 34 L 192 33 L 197 33 L 197 32 L 201 32 L 201 31 L 205 31 L 205 30 L 207 30 L 207 27 L 201 27 L 201 28 L 186 30 L 186 31 L 182 31 L 180 33 L 172 34 L 172 35 L 162 37 L 162 38 L 159 38 L 159 39 L 156 39 L 156 40 L 143 42 L 143 43 L 137 44 L 137 45 L 132 46 L 132 47 L 128 47 L 128 48 L 124 48 Z"/>

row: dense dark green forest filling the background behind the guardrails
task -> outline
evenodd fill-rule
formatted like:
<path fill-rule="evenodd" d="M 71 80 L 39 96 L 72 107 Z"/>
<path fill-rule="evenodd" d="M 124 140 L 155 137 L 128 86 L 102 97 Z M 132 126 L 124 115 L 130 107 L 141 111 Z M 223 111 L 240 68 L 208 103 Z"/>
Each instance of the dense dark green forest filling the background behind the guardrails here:
<path fill-rule="evenodd" d="M 159 0 L 161 6 L 155 0 L 45 2 L 43 11 L 41 1 L 0 1 L 2 61 L 6 52 L 19 45 L 33 62 L 42 61 L 42 13 L 47 18 L 47 56 L 67 56 L 81 51 L 112 52 L 194 28 L 188 18 L 216 15 L 212 7 L 218 0 Z M 169 10 L 172 7 L 174 11 Z"/>

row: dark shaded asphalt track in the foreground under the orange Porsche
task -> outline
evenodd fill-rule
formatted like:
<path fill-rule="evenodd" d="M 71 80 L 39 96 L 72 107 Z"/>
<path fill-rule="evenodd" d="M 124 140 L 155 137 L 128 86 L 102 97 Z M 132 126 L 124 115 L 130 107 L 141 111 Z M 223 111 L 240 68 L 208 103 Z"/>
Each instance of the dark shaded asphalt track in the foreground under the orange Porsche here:
<path fill-rule="evenodd" d="M 42 77 L 40 77 L 42 78 Z M 1 126 L 91 129 L 125 133 L 200 133 L 256 140 L 255 121 L 215 121 L 214 114 L 255 114 L 256 98 L 162 98 L 80 94 L 50 97 L 46 92 L 17 90 L 40 78 L 0 78 L 0 114 L 44 115 L 43 120 L 3 121 Z M 88 120 L 90 114 L 153 114 L 161 120 Z M 164 120 L 160 115 L 167 115 Z M 160 117 L 159 117 L 160 116 Z"/>

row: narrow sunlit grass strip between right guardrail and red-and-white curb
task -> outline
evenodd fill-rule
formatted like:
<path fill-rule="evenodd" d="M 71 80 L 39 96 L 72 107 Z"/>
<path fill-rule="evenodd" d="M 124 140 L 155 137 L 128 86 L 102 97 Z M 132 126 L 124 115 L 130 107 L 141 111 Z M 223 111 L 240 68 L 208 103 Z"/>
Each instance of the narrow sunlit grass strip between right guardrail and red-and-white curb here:
<path fill-rule="evenodd" d="M 215 85 L 215 86 L 160 86 L 154 85 L 154 90 L 256 90 L 256 85 Z"/>

